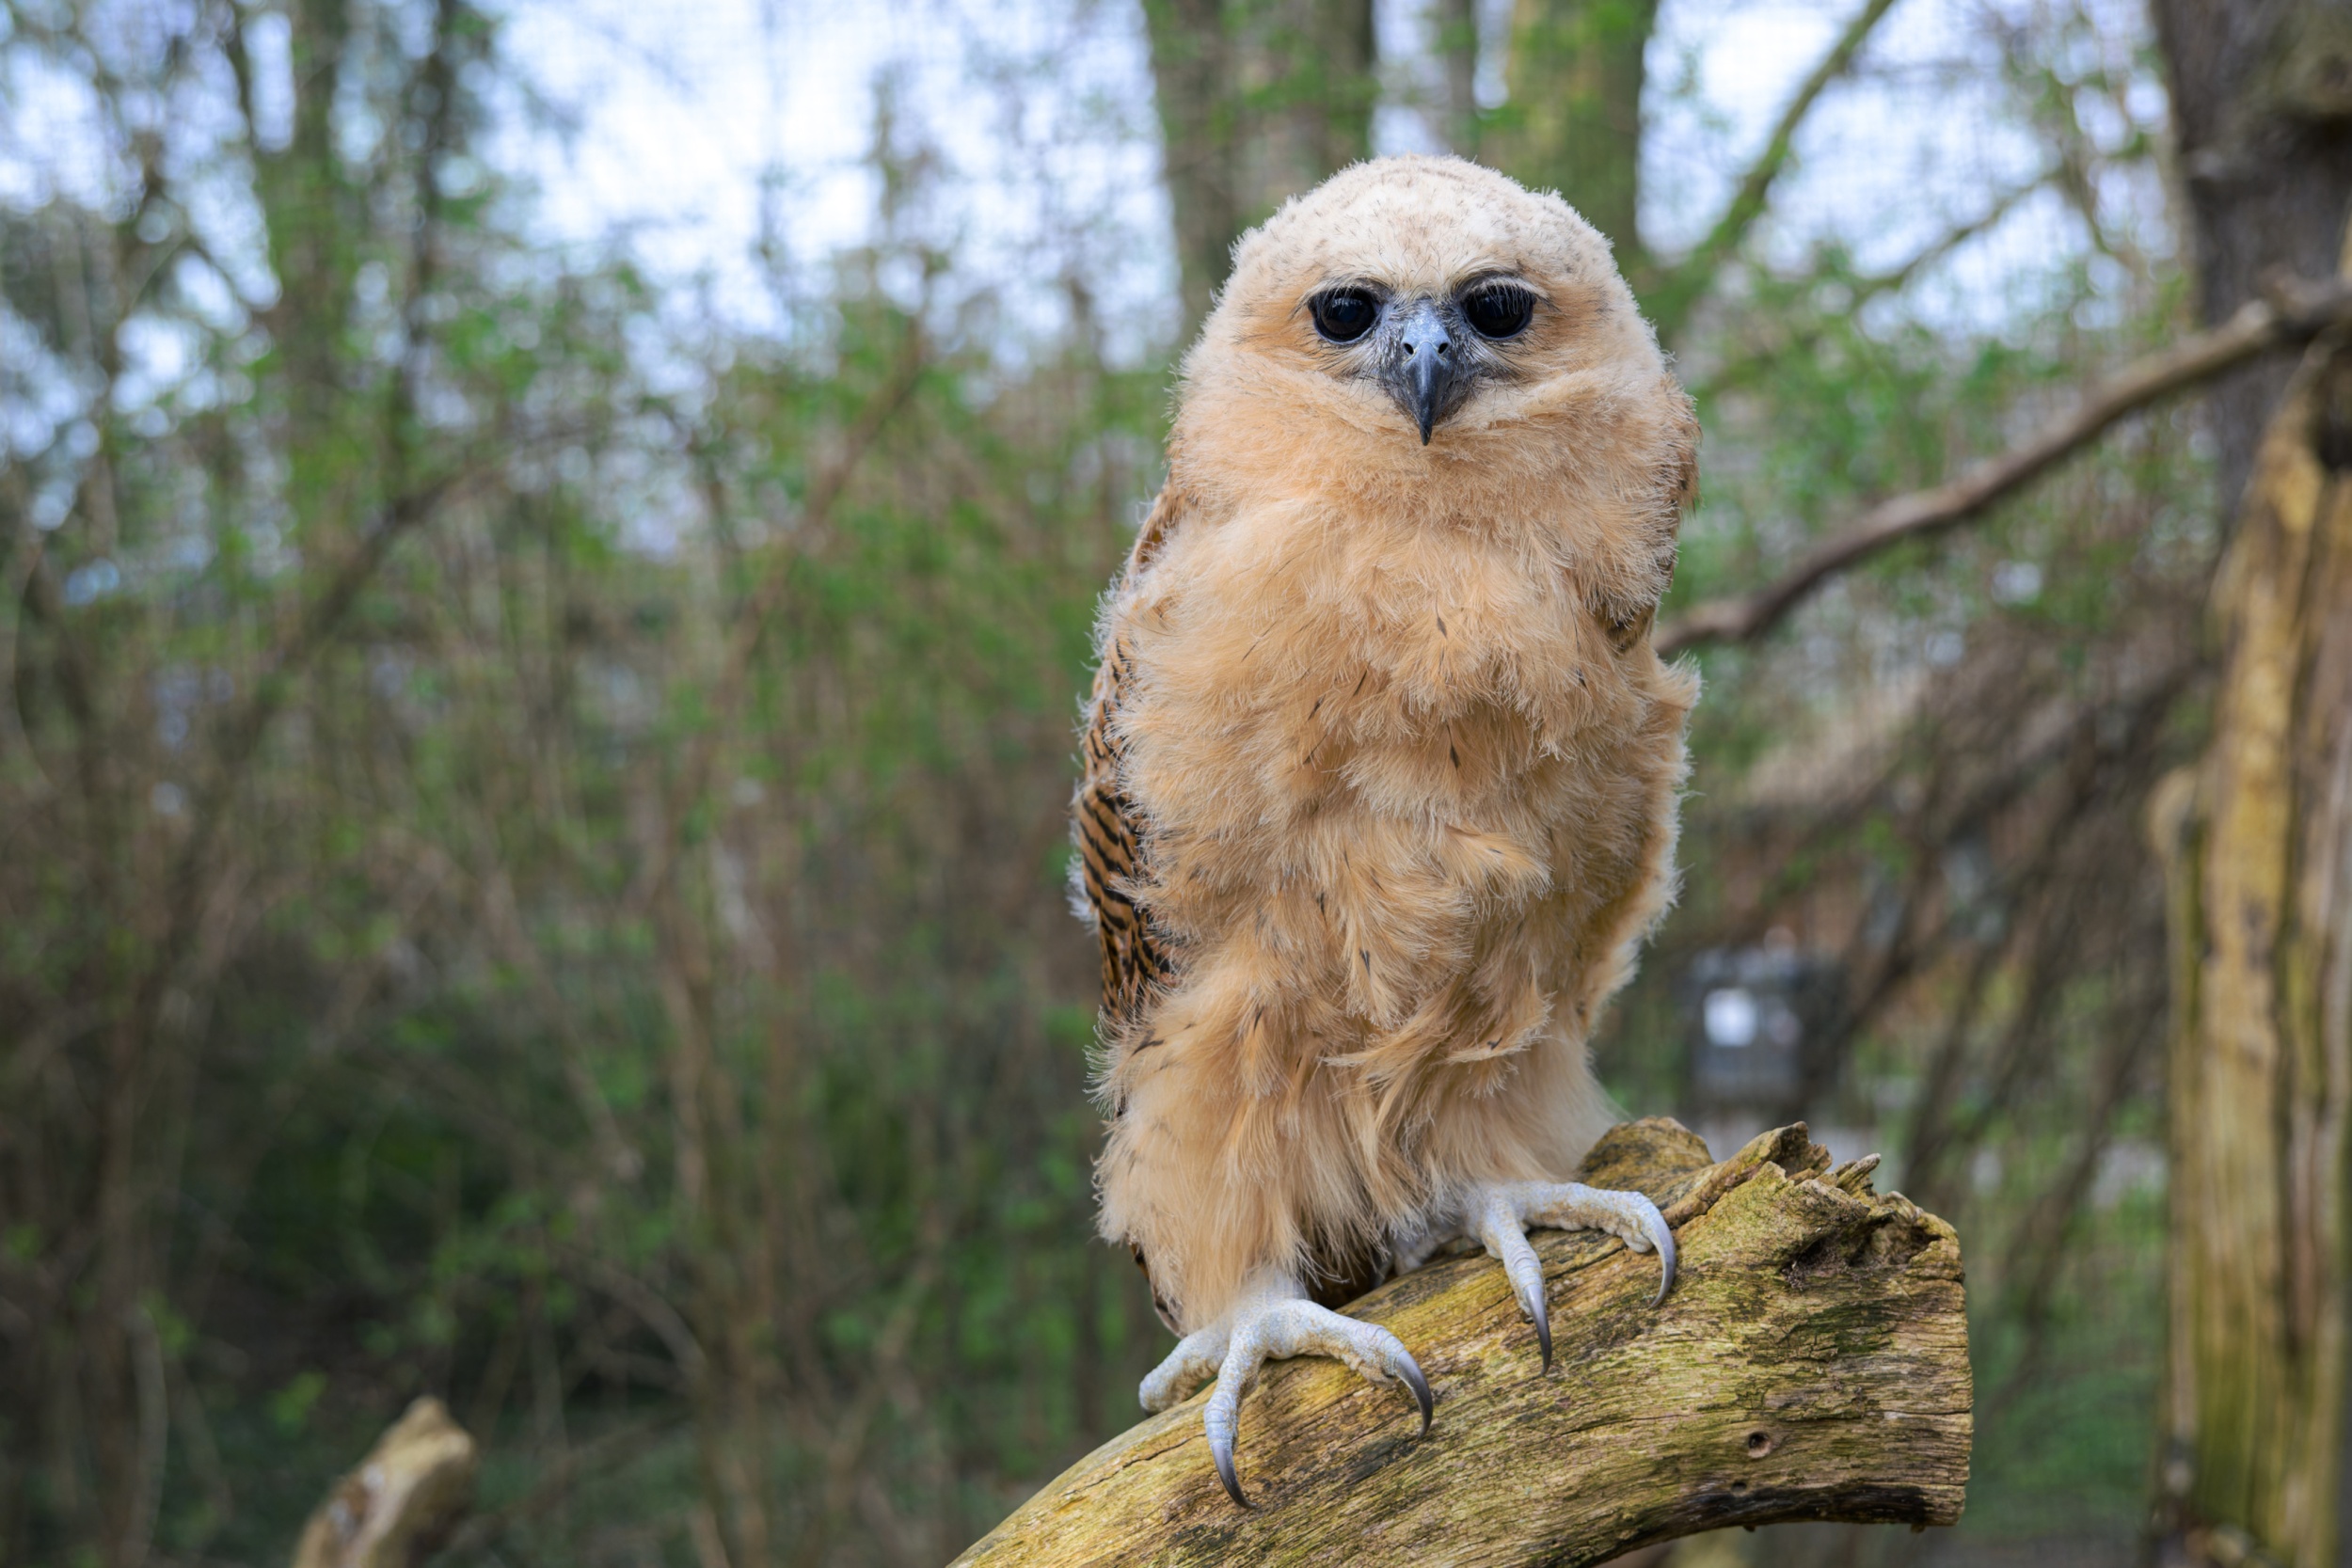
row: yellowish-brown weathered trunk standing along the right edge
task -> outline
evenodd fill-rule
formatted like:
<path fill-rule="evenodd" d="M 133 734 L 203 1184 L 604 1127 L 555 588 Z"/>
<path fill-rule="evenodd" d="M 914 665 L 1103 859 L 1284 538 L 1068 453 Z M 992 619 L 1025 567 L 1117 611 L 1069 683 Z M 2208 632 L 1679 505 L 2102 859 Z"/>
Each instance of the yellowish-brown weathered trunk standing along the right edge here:
<path fill-rule="evenodd" d="M 2201 773 L 2157 799 L 2173 912 L 2173 1537 L 2338 1561 L 2352 1105 L 2352 343 L 2305 355 L 2216 583 Z"/>

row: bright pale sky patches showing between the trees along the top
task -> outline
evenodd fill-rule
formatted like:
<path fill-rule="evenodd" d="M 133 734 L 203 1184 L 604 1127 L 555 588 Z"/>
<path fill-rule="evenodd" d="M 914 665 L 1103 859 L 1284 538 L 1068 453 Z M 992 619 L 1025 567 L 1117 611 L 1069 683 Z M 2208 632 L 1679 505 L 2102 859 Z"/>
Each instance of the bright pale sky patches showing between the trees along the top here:
<path fill-rule="evenodd" d="M 903 221 L 955 254 L 957 289 L 997 301 L 1009 317 L 1004 343 L 1016 346 L 1023 327 L 1054 324 L 1063 273 L 1084 277 L 1117 334 L 1115 350 L 1164 346 L 1174 329 L 1136 0 L 485 2 L 501 16 L 508 66 L 494 78 L 503 108 L 487 155 L 534 193 L 532 233 L 555 247 L 626 244 L 661 282 L 708 284 L 668 289 L 673 308 L 708 306 L 757 327 L 781 317 L 779 277 L 802 292 L 823 287 L 828 256 L 875 230 L 868 148 L 877 103 L 889 101 L 896 150 L 922 153 L 943 174 Z M 1860 68 L 1809 120 L 1797 165 L 1773 195 L 1769 244 L 1795 252 L 1837 235 L 1863 266 L 1893 266 L 2027 183 L 2044 150 L 2004 99 L 2004 28 L 2042 28 L 2037 52 L 2070 49 L 2077 66 L 2100 56 L 2136 82 L 2129 118 L 2161 125 L 2161 89 L 2138 49 L 2140 0 L 2084 2 L 2096 26 L 2067 31 L 2053 24 L 2070 14 L 2060 0 L 1898 0 Z M 1409 96 L 1425 40 L 1421 5 L 1381 0 L 1397 96 Z M 1489 33 L 1498 33 L 1508 0 L 1484 5 Z M 115 0 L 99 26 L 136 35 L 162 14 L 158 0 Z M 1642 167 L 1642 226 L 1656 249 L 1672 254 L 1717 216 L 1846 14 L 1849 5 L 1816 0 L 1663 0 Z M 256 12 L 249 38 L 268 136 L 287 113 L 289 89 L 270 85 L 285 82 L 285 26 Z M 1486 89 L 1498 87 L 1501 73 L 1489 71 Z M 2091 113 L 2086 129 L 2103 141 L 2131 132 L 2098 120 Z M 0 82 L 0 205 L 38 205 L 49 188 L 92 200 L 122 179 L 120 162 L 108 174 L 94 125 L 80 82 L 12 59 Z M 219 134 L 228 134 L 226 122 Z M 1381 110 L 1376 143 L 1435 146 L 1409 103 Z M 181 155 L 202 160 L 207 150 L 191 143 Z M 2164 244 L 2152 179 L 2122 181 L 2107 202 L 2138 216 L 2143 242 Z M 238 202 L 200 221 L 214 230 L 252 223 Z M 762 235 L 783 268 L 762 270 Z M 233 280 L 247 301 L 268 292 L 259 247 L 223 242 L 214 252 L 252 273 Z M 2077 261 L 2093 275 L 2105 266 L 2089 254 L 2082 223 L 2044 193 L 1936 268 L 1900 308 L 1938 324 L 1999 324 L 2013 306 L 2032 303 L 2020 292 Z"/>

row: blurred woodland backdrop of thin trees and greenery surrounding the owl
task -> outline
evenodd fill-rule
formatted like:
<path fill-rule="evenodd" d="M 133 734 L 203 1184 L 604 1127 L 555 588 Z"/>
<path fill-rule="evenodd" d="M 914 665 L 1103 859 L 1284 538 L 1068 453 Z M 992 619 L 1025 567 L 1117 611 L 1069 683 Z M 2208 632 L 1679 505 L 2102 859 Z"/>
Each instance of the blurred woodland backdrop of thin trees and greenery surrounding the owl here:
<path fill-rule="evenodd" d="M 2317 263 L 2194 266 L 2199 14 L 901 0 L 708 249 L 597 205 L 550 9 L 7 0 L 0 1563 L 282 1559 L 423 1392 L 485 1443 L 452 1561 L 953 1556 L 1164 1352 L 1091 1241 L 1063 809 L 1230 240 L 1369 150 L 1564 190 L 1700 404 L 1672 623 L 2333 270 L 2328 183 Z M 2138 1549 L 2147 809 L 2281 376 L 1696 649 L 1604 1079 L 1959 1225 L 1978 1455 L 1957 1533 L 1677 1561 Z M 1726 950 L 1835 976 L 1773 1103 L 1693 1084 Z"/>

